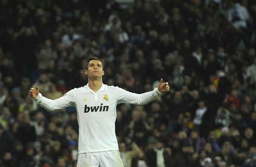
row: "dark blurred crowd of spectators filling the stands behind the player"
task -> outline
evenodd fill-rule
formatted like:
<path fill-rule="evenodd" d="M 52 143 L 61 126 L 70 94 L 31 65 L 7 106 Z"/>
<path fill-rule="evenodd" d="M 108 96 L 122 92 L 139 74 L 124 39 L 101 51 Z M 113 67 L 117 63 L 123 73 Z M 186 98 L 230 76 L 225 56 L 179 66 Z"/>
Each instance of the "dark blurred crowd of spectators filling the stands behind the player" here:
<path fill-rule="evenodd" d="M 56 99 L 87 84 L 89 55 L 104 84 L 171 90 L 145 106 L 120 104 L 125 167 L 256 166 L 255 0 L 2 0 L 0 166 L 73 167 L 76 110 Z"/>

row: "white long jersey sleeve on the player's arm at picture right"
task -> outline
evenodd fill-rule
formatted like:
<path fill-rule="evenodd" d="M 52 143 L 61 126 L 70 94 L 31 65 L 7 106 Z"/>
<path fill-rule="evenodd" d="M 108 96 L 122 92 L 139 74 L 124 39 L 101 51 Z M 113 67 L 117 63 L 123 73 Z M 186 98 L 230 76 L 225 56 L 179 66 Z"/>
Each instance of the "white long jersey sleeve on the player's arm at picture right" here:
<path fill-rule="evenodd" d="M 154 88 L 154 90 L 150 92 L 136 94 L 117 87 L 118 104 L 146 105 L 161 95 L 162 93 L 160 93 L 157 88 Z"/>

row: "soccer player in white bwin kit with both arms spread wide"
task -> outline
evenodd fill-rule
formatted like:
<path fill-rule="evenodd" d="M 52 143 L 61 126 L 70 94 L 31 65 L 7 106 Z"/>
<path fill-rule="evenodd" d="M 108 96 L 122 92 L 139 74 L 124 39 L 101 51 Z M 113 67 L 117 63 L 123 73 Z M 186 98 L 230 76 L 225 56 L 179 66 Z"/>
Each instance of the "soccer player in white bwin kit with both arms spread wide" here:
<path fill-rule="evenodd" d="M 99 58 L 89 56 L 85 74 L 87 85 L 74 88 L 62 97 L 52 100 L 39 93 L 39 87 L 29 94 L 37 104 L 48 111 L 74 106 L 79 123 L 77 166 L 122 167 L 117 137 L 115 135 L 116 107 L 120 103 L 145 105 L 162 93 L 169 91 L 168 83 L 159 82 L 151 92 L 135 94 L 118 86 L 102 83 L 103 64 Z"/>

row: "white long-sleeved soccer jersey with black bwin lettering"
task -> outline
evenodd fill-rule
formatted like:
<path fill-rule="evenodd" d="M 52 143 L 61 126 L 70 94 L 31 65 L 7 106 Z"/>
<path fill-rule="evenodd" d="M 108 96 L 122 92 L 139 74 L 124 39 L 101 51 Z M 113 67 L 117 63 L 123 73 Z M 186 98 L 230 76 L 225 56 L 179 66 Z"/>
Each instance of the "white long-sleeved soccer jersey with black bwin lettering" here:
<path fill-rule="evenodd" d="M 48 111 L 68 106 L 76 108 L 79 124 L 78 153 L 85 153 L 119 150 L 115 135 L 118 104 L 145 105 L 160 95 L 157 88 L 136 94 L 104 84 L 95 93 L 87 84 L 68 91 L 59 99 L 51 100 L 39 94 L 34 100 Z"/>

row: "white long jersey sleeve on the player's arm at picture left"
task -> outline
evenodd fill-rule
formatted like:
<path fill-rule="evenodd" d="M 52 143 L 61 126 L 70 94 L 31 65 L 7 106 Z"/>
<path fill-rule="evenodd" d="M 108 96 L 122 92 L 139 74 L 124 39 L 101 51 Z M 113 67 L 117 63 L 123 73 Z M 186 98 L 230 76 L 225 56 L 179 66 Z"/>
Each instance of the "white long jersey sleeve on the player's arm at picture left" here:
<path fill-rule="evenodd" d="M 74 106 L 74 90 L 68 91 L 62 97 L 52 100 L 42 96 L 39 93 L 38 97 L 34 99 L 38 105 L 43 107 L 47 111 L 53 111 L 57 109 L 62 109 L 64 107 Z"/>

